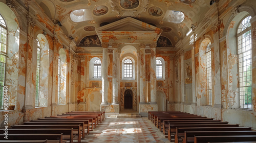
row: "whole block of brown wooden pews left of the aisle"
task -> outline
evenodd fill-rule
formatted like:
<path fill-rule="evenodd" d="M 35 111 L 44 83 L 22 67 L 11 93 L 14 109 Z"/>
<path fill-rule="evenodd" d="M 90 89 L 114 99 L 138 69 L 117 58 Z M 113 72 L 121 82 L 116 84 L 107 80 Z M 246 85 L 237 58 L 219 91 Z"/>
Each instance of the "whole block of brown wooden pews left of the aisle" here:
<path fill-rule="evenodd" d="M 105 119 L 104 111 L 73 111 L 44 118 L 38 118 L 24 125 L 13 125 L 8 129 L 8 139 L 4 138 L 6 130 L 1 129 L 0 142 L 47 142 L 80 143 L 98 124 Z"/>

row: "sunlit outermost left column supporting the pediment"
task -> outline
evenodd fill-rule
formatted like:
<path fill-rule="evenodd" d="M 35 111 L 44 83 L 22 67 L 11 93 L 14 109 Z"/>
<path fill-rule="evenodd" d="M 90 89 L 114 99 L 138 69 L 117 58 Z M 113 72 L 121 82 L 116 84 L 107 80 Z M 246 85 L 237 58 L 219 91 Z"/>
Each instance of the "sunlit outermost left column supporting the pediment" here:
<path fill-rule="evenodd" d="M 102 102 L 101 104 L 108 104 L 108 47 L 109 43 L 102 43 Z"/>

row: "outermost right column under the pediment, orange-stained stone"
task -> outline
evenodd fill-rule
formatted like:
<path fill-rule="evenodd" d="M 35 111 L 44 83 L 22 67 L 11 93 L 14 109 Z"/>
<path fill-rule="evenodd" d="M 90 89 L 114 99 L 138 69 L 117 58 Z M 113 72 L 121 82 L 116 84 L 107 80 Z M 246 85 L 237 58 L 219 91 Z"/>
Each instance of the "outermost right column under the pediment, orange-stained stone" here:
<path fill-rule="evenodd" d="M 151 104 L 157 104 L 156 46 L 157 46 L 157 43 L 150 44 L 150 49 L 151 49 L 151 67 L 150 67 Z"/>

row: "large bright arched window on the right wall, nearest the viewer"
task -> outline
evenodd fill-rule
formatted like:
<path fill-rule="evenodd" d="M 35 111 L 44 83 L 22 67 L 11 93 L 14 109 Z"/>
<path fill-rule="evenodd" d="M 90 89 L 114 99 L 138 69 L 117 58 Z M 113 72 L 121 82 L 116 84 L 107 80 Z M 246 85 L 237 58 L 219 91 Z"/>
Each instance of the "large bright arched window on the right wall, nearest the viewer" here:
<path fill-rule="evenodd" d="M 244 18 L 237 31 L 240 108 L 252 109 L 251 100 L 251 16 Z"/>

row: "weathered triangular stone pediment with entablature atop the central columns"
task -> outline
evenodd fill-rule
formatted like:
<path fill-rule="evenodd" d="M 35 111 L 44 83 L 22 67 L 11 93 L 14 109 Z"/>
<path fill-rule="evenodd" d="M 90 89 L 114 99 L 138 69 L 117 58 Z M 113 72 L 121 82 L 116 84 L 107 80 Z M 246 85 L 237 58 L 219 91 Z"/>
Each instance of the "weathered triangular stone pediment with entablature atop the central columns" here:
<path fill-rule="evenodd" d="M 140 20 L 126 17 L 95 29 L 101 42 L 156 42 L 162 29 Z"/>

